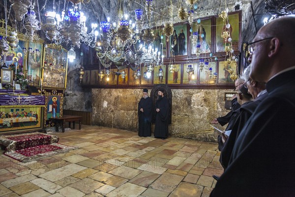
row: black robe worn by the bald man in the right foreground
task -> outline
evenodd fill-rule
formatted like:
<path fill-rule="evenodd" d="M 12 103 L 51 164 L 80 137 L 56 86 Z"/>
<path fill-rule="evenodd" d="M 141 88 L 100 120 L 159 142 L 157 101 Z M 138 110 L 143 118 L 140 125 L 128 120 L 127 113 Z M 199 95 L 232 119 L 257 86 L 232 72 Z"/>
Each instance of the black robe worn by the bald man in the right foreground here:
<path fill-rule="evenodd" d="M 295 196 L 295 69 L 266 83 L 268 96 L 236 139 L 211 197 Z"/>

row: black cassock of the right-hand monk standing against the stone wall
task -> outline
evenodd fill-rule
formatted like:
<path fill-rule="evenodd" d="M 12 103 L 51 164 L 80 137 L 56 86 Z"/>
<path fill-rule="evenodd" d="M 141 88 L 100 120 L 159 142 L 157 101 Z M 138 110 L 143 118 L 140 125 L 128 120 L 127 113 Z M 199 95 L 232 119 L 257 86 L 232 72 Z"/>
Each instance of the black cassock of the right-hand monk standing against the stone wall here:
<path fill-rule="evenodd" d="M 168 117 L 169 117 L 169 101 L 166 97 L 156 101 L 155 108 L 159 108 L 156 113 L 154 136 L 159 138 L 167 138 L 168 133 Z"/>

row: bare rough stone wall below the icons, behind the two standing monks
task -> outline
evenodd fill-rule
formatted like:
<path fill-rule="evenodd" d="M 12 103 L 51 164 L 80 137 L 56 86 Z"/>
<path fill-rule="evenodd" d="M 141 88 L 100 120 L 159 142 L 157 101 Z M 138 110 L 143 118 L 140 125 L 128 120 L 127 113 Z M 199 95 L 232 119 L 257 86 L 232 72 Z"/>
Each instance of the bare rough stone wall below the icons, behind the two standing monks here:
<path fill-rule="evenodd" d="M 173 89 L 169 133 L 182 138 L 216 141 L 217 135 L 210 122 L 229 112 L 224 108 L 224 92 L 231 91 Z M 137 104 L 141 97 L 142 89 L 92 89 L 92 124 L 137 132 Z"/>

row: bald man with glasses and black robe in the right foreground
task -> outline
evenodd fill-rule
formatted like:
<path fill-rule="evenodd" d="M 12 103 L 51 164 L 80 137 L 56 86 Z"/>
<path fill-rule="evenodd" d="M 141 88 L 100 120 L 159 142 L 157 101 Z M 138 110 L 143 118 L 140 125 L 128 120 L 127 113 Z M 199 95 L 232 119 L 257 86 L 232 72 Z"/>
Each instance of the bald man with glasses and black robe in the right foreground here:
<path fill-rule="evenodd" d="M 236 139 L 211 197 L 295 196 L 295 29 L 290 27 L 295 16 L 273 20 L 249 47 L 250 77 L 266 82 L 268 96 Z"/>

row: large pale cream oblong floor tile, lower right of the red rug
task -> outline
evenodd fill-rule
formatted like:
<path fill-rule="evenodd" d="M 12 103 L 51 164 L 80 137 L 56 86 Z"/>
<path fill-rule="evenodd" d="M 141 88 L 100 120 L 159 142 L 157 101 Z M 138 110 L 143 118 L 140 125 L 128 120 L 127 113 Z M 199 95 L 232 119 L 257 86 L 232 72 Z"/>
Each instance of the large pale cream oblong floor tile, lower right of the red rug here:
<path fill-rule="evenodd" d="M 69 164 L 69 165 L 51 170 L 51 171 L 46 172 L 44 174 L 41 174 L 41 175 L 39 175 L 39 177 L 47 179 L 52 182 L 55 182 L 55 181 L 65 178 L 67 176 L 70 176 L 72 174 L 75 174 L 77 172 L 80 172 L 84 169 L 86 169 L 86 167 L 83 167 L 81 165 Z"/>

